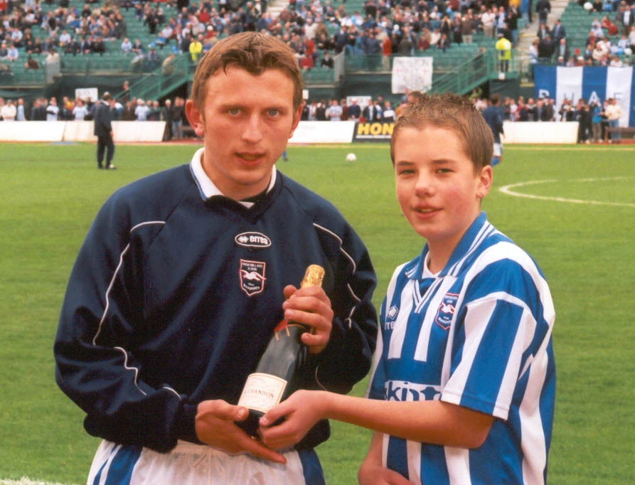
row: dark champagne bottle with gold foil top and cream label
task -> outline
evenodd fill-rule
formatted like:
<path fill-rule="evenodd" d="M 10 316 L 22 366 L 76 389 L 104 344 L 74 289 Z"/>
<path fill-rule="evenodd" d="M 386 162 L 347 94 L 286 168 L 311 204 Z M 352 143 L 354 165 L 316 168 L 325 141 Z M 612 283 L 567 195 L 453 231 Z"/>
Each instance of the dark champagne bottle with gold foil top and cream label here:
<path fill-rule="evenodd" d="M 323 277 L 323 267 L 310 265 L 300 287 L 321 286 Z M 247 407 L 249 416 L 236 424 L 248 434 L 256 436 L 260 417 L 294 390 L 294 375 L 306 361 L 307 347 L 300 339 L 306 331 L 310 331 L 308 326 L 286 319 L 274 329 L 256 371 L 247 377 L 238 400 L 239 406 Z"/>

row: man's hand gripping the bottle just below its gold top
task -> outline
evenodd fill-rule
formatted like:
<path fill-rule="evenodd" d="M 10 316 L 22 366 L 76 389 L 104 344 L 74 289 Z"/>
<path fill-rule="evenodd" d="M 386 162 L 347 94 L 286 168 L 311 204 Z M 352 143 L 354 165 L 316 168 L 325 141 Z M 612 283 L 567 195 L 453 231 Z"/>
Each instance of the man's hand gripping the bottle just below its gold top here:
<path fill-rule="evenodd" d="M 284 287 L 284 318 L 311 327 L 311 331 L 302 335 L 302 343 L 309 352 L 320 353 L 329 343 L 333 326 L 331 300 L 324 289 L 309 286 L 297 289 L 289 284 Z"/>

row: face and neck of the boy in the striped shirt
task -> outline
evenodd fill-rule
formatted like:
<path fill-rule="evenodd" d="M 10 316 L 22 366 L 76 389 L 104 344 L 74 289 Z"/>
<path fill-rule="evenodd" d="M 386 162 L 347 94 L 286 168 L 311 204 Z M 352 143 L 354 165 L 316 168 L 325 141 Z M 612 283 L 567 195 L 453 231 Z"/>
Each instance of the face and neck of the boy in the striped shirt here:
<path fill-rule="evenodd" d="M 426 238 L 430 270 L 442 270 L 480 213 L 491 166 L 474 173 L 458 135 L 444 127 L 404 127 L 395 142 L 397 201 L 412 228 Z"/>

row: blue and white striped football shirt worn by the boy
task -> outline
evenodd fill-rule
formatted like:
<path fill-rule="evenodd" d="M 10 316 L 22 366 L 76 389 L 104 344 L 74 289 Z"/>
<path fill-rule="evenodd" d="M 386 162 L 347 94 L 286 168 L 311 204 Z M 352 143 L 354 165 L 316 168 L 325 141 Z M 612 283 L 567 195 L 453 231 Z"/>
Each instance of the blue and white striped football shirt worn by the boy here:
<path fill-rule="evenodd" d="M 544 484 L 555 396 L 555 312 L 532 258 L 481 213 L 444 269 L 428 247 L 388 286 L 368 397 L 442 400 L 494 420 L 477 449 L 385 435 L 383 464 L 415 484 Z"/>

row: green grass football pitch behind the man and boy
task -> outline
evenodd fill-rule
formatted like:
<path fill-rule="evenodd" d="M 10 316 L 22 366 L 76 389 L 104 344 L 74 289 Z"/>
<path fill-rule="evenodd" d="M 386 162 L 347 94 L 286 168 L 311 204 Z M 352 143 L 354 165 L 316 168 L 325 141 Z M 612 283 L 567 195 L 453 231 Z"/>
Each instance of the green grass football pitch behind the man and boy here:
<path fill-rule="evenodd" d="M 0 483 L 85 483 L 97 439 L 53 378 L 70 268 L 110 193 L 187 163 L 194 149 L 117 146 L 119 169 L 97 171 L 91 144 L 0 144 Z M 345 159 L 351 151 L 353 163 Z M 279 169 L 333 201 L 368 245 L 379 306 L 395 266 L 422 246 L 400 215 L 388 146 L 292 146 L 289 157 Z M 533 255 L 553 292 L 552 484 L 633 483 L 634 183 L 629 146 L 507 146 L 484 201 L 491 222 Z M 369 439 L 367 430 L 333 423 L 318 448 L 329 485 L 356 483 Z"/>

